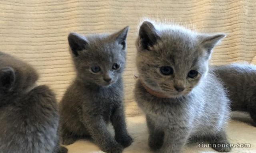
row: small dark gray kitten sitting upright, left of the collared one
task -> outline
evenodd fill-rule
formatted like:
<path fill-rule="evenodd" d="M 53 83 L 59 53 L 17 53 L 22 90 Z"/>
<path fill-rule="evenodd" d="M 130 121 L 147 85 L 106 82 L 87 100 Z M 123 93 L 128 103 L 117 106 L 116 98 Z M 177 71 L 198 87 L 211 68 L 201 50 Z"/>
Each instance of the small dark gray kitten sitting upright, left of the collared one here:
<path fill-rule="evenodd" d="M 63 144 L 91 136 L 103 151 L 121 153 L 132 143 L 122 103 L 127 33 L 128 27 L 110 35 L 68 35 L 76 78 L 60 102 Z"/>

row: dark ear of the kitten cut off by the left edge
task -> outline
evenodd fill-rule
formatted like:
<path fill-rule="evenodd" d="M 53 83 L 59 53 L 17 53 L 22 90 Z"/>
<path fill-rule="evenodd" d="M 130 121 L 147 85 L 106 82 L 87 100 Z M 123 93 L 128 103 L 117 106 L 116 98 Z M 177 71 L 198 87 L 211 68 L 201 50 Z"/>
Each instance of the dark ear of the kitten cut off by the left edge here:
<path fill-rule="evenodd" d="M 13 89 L 15 80 L 15 72 L 11 67 L 0 69 L 0 88 L 2 88 L 4 91 L 11 91 Z"/>

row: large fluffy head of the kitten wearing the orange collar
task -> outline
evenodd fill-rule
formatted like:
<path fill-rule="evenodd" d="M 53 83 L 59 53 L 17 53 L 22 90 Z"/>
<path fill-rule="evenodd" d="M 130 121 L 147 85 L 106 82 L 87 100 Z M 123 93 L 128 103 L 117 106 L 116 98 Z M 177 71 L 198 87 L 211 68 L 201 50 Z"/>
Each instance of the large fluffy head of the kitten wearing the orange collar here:
<path fill-rule="evenodd" d="M 186 95 L 206 75 L 212 49 L 224 37 L 144 21 L 136 43 L 140 79 L 165 95 Z"/>

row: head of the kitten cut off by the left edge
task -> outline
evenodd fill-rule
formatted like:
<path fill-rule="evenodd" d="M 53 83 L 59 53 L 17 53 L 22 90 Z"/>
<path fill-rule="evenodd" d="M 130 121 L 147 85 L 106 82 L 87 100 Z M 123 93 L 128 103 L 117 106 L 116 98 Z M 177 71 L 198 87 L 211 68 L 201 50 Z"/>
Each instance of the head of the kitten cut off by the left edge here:
<path fill-rule="evenodd" d="M 26 92 L 34 86 L 38 74 L 27 63 L 0 52 L 0 98 Z"/>

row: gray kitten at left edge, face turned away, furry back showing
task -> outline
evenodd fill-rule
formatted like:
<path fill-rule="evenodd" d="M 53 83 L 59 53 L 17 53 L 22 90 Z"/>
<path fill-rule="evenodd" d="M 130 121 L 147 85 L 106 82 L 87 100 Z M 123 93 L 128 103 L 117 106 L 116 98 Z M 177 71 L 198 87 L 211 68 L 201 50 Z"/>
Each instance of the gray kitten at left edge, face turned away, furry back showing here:
<path fill-rule="evenodd" d="M 58 110 L 28 64 L 0 52 L 0 152 L 66 153 L 58 143 Z"/>

